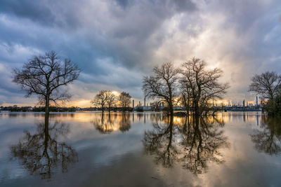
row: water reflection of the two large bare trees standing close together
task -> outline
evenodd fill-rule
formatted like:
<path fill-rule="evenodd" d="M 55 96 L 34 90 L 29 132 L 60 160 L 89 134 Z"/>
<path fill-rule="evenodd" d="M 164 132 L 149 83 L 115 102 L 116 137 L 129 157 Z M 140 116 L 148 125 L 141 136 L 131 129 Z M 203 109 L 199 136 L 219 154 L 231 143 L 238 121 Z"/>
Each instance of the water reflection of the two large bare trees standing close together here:
<path fill-rule="evenodd" d="M 223 125 L 223 120 L 213 116 L 164 118 L 164 124 L 156 120 L 154 130 L 145 132 L 143 144 L 164 167 L 179 162 L 190 172 L 201 174 L 207 172 L 208 161 L 223 162 L 220 148 L 229 146 L 220 128 Z"/>

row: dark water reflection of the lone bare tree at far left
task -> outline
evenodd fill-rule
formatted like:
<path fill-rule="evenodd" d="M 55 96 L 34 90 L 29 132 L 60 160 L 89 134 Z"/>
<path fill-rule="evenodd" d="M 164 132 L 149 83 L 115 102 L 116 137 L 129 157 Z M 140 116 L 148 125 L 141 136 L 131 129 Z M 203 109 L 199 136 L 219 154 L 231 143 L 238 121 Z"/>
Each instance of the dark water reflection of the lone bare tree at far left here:
<path fill-rule="evenodd" d="M 37 125 L 36 134 L 25 131 L 18 144 L 11 146 L 11 153 L 21 160 L 30 174 L 39 174 L 42 179 L 61 169 L 67 172 L 70 164 L 78 162 L 77 152 L 65 142 L 58 142 L 60 136 L 69 132 L 69 125 L 55 121 L 49 126 L 48 120 Z"/>

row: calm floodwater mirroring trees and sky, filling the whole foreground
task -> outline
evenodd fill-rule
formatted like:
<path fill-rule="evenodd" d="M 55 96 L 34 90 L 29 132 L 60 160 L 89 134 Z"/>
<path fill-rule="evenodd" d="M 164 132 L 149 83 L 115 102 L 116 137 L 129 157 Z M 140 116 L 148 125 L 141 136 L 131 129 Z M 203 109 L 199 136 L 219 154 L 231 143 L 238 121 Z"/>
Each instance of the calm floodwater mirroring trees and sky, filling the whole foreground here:
<path fill-rule="evenodd" d="M 1 112 L 0 186 L 281 186 L 280 141 L 260 112 Z"/>

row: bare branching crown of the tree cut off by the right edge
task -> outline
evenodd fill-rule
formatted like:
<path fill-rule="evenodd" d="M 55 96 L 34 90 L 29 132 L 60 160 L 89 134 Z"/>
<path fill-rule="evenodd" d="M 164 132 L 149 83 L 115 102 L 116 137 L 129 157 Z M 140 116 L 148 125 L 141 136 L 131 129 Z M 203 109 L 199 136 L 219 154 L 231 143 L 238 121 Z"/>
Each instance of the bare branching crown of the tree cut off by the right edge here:
<path fill-rule="evenodd" d="M 281 92 L 281 76 L 273 71 L 267 71 L 261 75 L 256 74 L 251 78 L 249 91 L 256 92 L 261 99 L 273 100 Z"/>

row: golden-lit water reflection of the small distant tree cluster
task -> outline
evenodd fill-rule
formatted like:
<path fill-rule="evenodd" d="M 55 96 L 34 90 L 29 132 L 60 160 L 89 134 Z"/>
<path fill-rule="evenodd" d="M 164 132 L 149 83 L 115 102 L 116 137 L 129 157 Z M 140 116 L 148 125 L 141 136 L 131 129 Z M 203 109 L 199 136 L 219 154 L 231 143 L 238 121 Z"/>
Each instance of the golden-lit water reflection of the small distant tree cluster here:
<path fill-rule="evenodd" d="M 131 128 L 129 113 L 100 113 L 100 115 L 95 116 L 91 123 L 102 134 L 110 134 L 115 130 L 126 132 Z"/>

